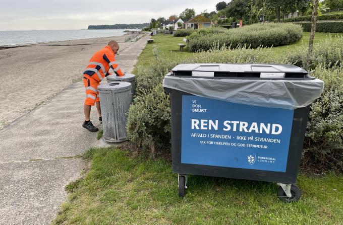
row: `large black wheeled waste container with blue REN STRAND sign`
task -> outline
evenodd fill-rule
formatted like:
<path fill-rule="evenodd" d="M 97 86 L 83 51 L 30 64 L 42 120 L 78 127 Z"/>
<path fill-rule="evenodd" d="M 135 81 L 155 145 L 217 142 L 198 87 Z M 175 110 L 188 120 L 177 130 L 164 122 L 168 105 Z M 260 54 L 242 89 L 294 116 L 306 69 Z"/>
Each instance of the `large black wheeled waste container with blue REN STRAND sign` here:
<path fill-rule="evenodd" d="M 310 104 L 324 83 L 295 65 L 181 64 L 163 80 L 172 112 L 173 171 L 276 182 L 282 201 L 294 185 Z"/>

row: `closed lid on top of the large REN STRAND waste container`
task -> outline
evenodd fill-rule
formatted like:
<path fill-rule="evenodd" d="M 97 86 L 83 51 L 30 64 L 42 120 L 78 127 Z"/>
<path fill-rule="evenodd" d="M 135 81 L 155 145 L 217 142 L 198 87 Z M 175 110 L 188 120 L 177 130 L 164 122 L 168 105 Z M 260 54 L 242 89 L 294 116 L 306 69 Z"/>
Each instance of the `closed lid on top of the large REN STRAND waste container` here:
<path fill-rule="evenodd" d="M 290 64 L 194 63 L 175 66 L 174 76 L 211 79 L 312 80 L 303 68 Z"/>

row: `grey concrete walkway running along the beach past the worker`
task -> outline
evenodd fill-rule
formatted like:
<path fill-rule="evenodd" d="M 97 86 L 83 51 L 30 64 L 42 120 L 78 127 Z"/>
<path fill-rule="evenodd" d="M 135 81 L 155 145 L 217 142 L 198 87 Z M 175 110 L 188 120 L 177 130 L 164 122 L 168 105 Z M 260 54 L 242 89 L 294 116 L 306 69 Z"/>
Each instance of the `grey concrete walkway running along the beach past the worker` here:
<path fill-rule="evenodd" d="M 124 71 L 133 70 L 148 38 L 120 43 Z M 87 167 L 78 156 L 98 144 L 97 133 L 81 126 L 84 92 L 77 82 L 0 130 L 0 224 L 49 224 L 67 200 L 65 186 Z"/>

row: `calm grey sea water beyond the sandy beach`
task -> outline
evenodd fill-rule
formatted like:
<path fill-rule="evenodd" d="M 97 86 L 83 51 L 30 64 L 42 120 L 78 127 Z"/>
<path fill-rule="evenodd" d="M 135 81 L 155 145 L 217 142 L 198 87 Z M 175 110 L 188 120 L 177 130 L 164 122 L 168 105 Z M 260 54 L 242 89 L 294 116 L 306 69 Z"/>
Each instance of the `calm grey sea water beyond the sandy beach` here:
<path fill-rule="evenodd" d="M 46 41 L 111 37 L 123 35 L 124 30 L 46 30 L 46 31 L 0 31 L 0 46 L 21 45 Z"/>

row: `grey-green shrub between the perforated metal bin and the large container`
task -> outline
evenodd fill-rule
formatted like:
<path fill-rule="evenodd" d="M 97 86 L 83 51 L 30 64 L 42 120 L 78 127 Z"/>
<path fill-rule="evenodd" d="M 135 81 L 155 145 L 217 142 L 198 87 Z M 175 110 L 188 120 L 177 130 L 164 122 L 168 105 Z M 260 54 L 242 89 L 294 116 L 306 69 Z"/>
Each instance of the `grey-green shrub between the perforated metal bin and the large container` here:
<path fill-rule="evenodd" d="M 127 131 L 128 138 L 153 158 L 170 151 L 169 96 L 164 94 L 162 84 L 135 98 L 129 109 Z"/>

